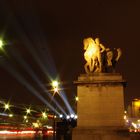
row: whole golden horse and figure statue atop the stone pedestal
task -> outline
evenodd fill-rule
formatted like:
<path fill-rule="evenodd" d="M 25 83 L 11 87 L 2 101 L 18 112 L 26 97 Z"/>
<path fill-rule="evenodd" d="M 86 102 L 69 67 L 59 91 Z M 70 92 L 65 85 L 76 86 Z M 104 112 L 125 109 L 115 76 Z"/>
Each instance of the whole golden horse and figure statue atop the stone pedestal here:
<path fill-rule="evenodd" d="M 122 54 L 120 48 L 112 51 L 110 48 L 105 48 L 99 38 L 93 40 L 91 37 L 84 39 L 83 44 L 86 73 L 115 71 L 116 63 Z"/>

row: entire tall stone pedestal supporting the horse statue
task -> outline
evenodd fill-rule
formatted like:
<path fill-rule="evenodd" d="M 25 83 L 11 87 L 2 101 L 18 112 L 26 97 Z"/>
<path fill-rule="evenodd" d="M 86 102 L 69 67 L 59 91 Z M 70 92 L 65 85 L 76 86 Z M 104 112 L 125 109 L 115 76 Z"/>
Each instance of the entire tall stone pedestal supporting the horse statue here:
<path fill-rule="evenodd" d="M 118 73 L 83 74 L 77 84 L 77 127 L 72 140 L 128 140 L 124 85 Z"/>

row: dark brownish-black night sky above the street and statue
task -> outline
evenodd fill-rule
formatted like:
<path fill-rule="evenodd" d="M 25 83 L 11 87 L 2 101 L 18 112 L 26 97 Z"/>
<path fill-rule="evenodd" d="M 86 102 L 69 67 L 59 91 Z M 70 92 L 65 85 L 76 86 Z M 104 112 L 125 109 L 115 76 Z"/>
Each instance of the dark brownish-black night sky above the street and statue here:
<path fill-rule="evenodd" d="M 1 0 L 0 35 L 5 40 L 5 53 L 0 52 L 1 99 L 42 104 L 25 86 L 45 97 L 30 69 L 48 90 L 50 77 L 59 78 L 71 103 L 76 94 L 73 81 L 85 73 L 86 37 L 122 49 L 117 72 L 127 81 L 125 104 L 140 97 L 139 0 Z M 13 76 L 17 73 L 25 83 Z"/>

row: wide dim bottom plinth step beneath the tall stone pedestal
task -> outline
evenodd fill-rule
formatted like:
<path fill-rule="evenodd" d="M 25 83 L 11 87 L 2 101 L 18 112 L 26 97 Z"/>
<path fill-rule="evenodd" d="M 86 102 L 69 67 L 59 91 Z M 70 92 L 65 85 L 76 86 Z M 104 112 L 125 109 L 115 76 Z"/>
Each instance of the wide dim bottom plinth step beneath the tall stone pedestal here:
<path fill-rule="evenodd" d="M 72 140 L 130 140 L 127 129 L 118 127 L 77 127 Z"/>

